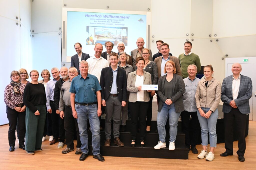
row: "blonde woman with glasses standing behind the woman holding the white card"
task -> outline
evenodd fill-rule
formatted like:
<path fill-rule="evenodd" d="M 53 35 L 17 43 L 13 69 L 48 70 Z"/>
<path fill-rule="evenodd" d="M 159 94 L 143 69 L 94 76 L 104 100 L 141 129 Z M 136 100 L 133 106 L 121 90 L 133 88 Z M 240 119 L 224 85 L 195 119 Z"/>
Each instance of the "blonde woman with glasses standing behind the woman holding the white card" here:
<path fill-rule="evenodd" d="M 158 72 L 157 72 L 157 65 L 154 61 L 149 60 L 149 49 L 144 48 L 142 50 L 142 57 L 145 60 L 145 65 L 144 65 L 144 70 L 151 75 L 151 81 L 152 84 L 157 84 L 158 81 Z M 135 70 L 137 70 L 137 67 L 135 67 Z M 155 95 L 155 90 L 152 90 L 149 94 L 150 101 L 148 102 L 148 108 L 147 108 L 147 128 L 146 132 L 150 132 L 150 126 L 151 126 L 151 119 L 152 119 L 152 101 L 153 101 L 153 96 Z"/>

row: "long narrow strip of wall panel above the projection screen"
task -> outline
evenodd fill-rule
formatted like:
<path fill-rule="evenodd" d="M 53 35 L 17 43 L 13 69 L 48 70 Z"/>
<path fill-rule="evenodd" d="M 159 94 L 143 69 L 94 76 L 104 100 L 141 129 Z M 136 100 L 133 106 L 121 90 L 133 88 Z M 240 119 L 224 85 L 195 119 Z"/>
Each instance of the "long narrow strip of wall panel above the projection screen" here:
<path fill-rule="evenodd" d="M 64 6 L 66 4 L 67 6 Z M 107 8 L 109 6 L 109 8 Z M 63 0 L 63 7 L 68 8 L 87 8 L 87 9 L 111 9 L 111 10 L 129 10 L 129 11 L 148 11 L 151 8 L 150 0 L 129 0 L 129 1 L 116 1 L 116 0 Z"/>

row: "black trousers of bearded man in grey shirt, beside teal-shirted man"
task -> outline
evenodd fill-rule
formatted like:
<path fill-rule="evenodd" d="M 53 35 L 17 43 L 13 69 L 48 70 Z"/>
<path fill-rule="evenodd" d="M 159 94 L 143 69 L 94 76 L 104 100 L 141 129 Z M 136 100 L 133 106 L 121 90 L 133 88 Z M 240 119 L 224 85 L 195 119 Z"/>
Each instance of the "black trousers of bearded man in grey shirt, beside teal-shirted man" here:
<path fill-rule="evenodd" d="M 64 117 L 64 128 L 66 130 L 65 134 L 67 148 L 74 148 L 74 135 L 77 136 L 77 148 L 81 148 L 82 143 L 80 141 L 78 123 L 77 119 L 75 119 L 72 115 L 71 107 L 65 106 Z M 74 134 L 74 128 L 76 128 L 76 134 Z"/>

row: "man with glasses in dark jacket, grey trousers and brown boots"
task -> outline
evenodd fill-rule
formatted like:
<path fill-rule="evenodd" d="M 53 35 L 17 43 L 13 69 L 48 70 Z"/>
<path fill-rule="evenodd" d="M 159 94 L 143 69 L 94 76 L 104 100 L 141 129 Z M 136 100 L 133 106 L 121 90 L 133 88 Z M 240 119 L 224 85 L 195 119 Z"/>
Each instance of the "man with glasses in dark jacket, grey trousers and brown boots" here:
<path fill-rule="evenodd" d="M 118 55 L 111 53 L 110 67 L 103 68 L 100 76 L 102 106 L 105 106 L 105 146 L 110 146 L 111 119 L 113 115 L 114 144 L 124 146 L 119 138 L 121 109 L 126 105 L 126 72 L 117 66 Z"/>

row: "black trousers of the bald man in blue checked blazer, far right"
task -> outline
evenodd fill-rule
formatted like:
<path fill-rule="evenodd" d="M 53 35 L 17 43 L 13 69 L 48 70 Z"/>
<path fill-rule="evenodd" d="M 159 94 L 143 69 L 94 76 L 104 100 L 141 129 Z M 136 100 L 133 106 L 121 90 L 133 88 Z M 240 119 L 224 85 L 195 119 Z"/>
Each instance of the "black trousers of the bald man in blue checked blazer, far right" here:
<path fill-rule="evenodd" d="M 225 149 L 227 153 L 233 153 L 233 126 L 236 126 L 238 134 L 238 151 L 240 156 L 244 155 L 246 149 L 245 129 L 246 114 L 242 114 L 239 109 L 232 108 L 229 113 L 224 113 L 225 127 Z"/>

